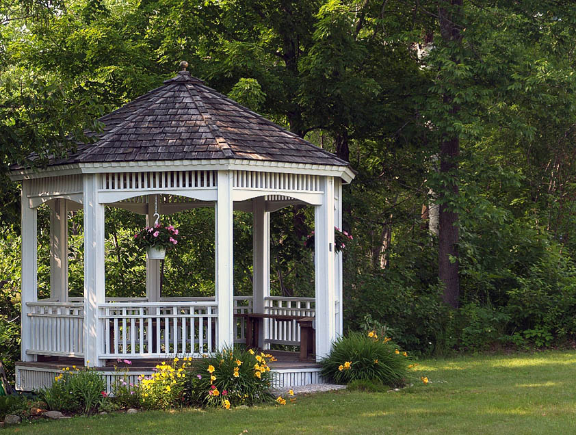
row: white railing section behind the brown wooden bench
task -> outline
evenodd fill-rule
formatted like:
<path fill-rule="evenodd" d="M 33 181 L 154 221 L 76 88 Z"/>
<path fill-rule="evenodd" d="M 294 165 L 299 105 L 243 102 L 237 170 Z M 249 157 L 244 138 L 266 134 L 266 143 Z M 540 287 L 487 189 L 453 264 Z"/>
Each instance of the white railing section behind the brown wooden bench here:
<path fill-rule="evenodd" d="M 290 315 L 315 317 L 315 298 L 287 298 L 270 296 L 264 298 L 264 313 L 273 315 Z M 300 345 L 300 327 L 296 320 L 277 321 L 264 319 L 267 326 L 265 342 L 269 344 Z"/>

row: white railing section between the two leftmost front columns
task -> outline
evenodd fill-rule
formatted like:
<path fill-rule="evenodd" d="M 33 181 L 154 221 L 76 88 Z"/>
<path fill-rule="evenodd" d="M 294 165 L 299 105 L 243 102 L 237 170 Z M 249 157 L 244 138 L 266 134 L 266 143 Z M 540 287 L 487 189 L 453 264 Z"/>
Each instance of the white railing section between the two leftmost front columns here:
<path fill-rule="evenodd" d="M 83 356 L 84 304 L 27 302 L 31 320 L 31 347 L 27 354 Z"/>

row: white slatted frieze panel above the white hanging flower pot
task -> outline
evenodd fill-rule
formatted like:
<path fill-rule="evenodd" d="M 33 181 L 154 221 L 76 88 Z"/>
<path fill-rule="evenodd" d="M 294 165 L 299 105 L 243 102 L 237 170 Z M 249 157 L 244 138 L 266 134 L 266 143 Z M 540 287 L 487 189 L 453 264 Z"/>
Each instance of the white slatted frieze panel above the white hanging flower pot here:
<path fill-rule="evenodd" d="M 203 189 L 216 187 L 215 171 L 157 171 L 157 172 L 109 172 L 102 175 L 101 189 L 118 190 L 150 189 Z"/>

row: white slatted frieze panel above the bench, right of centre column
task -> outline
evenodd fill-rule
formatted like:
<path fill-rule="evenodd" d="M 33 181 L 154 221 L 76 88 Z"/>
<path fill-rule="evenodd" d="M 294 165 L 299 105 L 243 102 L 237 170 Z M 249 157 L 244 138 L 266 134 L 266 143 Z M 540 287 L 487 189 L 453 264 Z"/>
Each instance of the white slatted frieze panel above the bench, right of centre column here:
<path fill-rule="evenodd" d="M 306 174 L 282 174 L 276 172 L 234 171 L 233 186 L 236 189 L 291 190 L 321 192 L 320 176 Z"/>

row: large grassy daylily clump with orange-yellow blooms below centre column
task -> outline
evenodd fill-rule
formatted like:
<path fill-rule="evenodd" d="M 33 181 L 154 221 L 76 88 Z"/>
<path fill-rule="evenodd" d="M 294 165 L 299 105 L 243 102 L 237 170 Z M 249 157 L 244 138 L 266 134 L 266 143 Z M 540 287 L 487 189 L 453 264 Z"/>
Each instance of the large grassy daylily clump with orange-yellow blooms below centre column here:
<path fill-rule="evenodd" d="M 229 408 L 274 400 L 270 367 L 274 357 L 253 350 L 224 349 L 198 360 L 187 388 L 200 404 Z"/>

